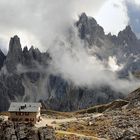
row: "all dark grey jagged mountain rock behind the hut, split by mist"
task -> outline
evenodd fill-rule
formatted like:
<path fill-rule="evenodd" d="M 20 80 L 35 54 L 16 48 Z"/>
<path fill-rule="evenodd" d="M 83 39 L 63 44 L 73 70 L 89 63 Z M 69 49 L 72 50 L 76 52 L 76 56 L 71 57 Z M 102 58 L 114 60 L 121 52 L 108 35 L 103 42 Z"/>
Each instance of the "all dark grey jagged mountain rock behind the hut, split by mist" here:
<path fill-rule="evenodd" d="M 98 59 L 108 61 L 112 56 L 118 65 L 123 64 L 118 71 L 120 77 L 140 69 L 140 41 L 130 26 L 118 36 L 106 35 L 96 20 L 85 13 L 75 26 L 86 47 L 100 48 L 94 54 Z M 72 111 L 124 97 L 123 91 L 114 91 L 106 83 L 78 87 L 61 75 L 54 75 L 49 69 L 51 61 L 49 52 L 42 53 L 34 47 L 22 49 L 19 37 L 11 38 L 7 56 L 0 51 L 0 111 L 7 110 L 11 101 L 42 101 L 46 108 Z"/>

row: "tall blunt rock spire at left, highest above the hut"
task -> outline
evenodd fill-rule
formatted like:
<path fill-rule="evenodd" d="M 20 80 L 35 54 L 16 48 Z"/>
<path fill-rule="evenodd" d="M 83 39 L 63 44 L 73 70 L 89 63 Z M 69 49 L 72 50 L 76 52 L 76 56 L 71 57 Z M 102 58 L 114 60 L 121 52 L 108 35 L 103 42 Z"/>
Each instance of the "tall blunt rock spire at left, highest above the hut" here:
<path fill-rule="evenodd" d="M 5 61 L 8 72 L 14 72 L 16 70 L 17 64 L 22 63 L 22 59 L 23 53 L 20 39 L 17 35 L 15 35 L 10 40 L 9 51 Z"/>

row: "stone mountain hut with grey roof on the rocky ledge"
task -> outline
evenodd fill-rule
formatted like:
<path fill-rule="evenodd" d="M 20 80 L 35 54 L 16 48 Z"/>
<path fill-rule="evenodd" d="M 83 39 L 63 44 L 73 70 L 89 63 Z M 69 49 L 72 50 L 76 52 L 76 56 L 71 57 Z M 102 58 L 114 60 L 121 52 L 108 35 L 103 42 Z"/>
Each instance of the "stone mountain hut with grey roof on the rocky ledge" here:
<path fill-rule="evenodd" d="M 35 124 L 40 121 L 40 111 L 41 103 L 12 102 L 8 110 L 9 120 Z"/>

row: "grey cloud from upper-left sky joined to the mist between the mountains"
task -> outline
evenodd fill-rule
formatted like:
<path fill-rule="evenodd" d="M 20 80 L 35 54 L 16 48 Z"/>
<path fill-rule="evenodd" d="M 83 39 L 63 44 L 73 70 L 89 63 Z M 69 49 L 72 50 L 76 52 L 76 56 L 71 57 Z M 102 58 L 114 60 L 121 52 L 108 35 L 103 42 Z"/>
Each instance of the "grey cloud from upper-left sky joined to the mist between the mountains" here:
<path fill-rule="evenodd" d="M 9 40 L 14 34 L 20 34 L 21 41 L 27 39 L 21 42 L 24 45 L 32 43 L 45 51 L 49 48 L 53 59 L 50 72 L 76 86 L 108 85 L 127 93 L 138 87 L 139 81 L 132 77 L 119 79 L 106 66 L 108 62 L 89 53 L 73 27 L 75 15 L 85 12 L 87 7 L 96 13 L 103 3 L 104 0 L 1 0 L 0 36 Z"/>

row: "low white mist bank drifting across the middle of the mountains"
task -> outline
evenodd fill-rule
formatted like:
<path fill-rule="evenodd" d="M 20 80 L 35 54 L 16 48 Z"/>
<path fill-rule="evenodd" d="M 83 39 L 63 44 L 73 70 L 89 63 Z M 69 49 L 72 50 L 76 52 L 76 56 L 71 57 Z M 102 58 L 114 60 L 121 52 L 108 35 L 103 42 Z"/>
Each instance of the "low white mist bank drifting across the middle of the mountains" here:
<path fill-rule="evenodd" d="M 115 63 L 115 58 L 109 57 L 108 61 L 98 59 L 91 54 L 93 48 L 90 50 L 85 47 L 77 33 L 73 33 L 72 42 L 60 38 L 49 50 L 52 56 L 52 74 L 60 75 L 75 86 L 91 89 L 109 86 L 117 92 L 129 93 L 139 86 L 140 81 L 131 74 L 128 79 L 119 79 L 115 70 L 120 70 L 122 66 Z M 110 67 L 110 63 L 114 64 L 115 70 Z"/>

